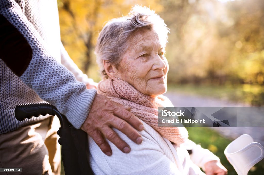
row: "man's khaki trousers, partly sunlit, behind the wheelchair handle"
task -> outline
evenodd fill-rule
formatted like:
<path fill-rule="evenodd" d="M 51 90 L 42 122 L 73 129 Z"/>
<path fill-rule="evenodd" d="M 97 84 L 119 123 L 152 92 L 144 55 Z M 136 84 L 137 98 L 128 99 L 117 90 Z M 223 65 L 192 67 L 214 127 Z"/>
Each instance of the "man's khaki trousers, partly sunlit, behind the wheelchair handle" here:
<path fill-rule="evenodd" d="M 22 168 L 22 172 L 0 172 L 0 175 L 59 175 L 59 127 L 58 117 L 52 116 L 0 135 L 0 167 Z"/>

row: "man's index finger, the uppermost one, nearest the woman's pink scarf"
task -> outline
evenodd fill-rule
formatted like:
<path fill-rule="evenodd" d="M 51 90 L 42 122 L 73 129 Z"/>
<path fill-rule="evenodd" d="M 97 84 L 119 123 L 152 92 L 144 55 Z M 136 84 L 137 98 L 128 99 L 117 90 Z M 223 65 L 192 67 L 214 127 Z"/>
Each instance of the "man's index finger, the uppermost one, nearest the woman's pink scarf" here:
<path fill-rule="evenodd" d="M 121 107 L 117 107 L 116 110 L 114 111 L 114 114 L 117 117 L 119 117 L 119 118 L 127 121 L 128 123 L 130 123 L 130 125 L 132 125 L 134 128 L 136 128 L 138 131 L 142 131 L 144 129 L 144 126 L 141 123 L 141 121 L 139 120 L 139 118 L 136 117 L 131 112 L 129 112 L 128 110 L 125 110 L 124 108 L 121 108 Z"/>

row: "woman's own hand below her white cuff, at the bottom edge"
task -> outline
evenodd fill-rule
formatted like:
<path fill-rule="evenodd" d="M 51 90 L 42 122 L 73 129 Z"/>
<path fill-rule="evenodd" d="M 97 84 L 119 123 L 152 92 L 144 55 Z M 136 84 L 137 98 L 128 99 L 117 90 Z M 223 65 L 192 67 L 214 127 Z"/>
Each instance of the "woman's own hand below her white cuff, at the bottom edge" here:
<path fill-rule="evenodd" d="M 205 163 L 205 174 L 206 175 L 225 175 L 227 169 L 219 161 L 209 161 Z"/>

